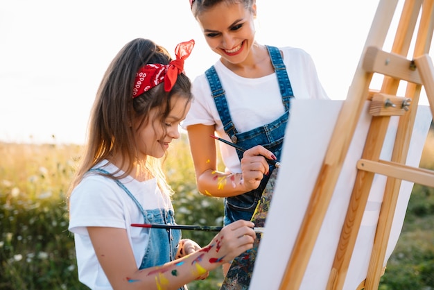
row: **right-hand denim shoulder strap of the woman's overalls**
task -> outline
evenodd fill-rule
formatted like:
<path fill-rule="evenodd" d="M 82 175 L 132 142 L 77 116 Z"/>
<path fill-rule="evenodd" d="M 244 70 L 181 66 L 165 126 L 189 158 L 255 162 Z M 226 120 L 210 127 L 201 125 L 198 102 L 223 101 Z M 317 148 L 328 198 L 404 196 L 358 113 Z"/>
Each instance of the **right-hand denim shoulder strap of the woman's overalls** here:
<path fill-rule="evenodd" d="M 291 87 L 288 73 L 286 72 L 286 66 L 284 60 L 281 58 L 280 50 L 275 46 L 268 46 L 268 54 L 270 54 L 272 66 L 275 68 L 277 75 L 277 81 L 279 82 L 280 94 L 282 96 L 282 102 L 286 110 L 290 108 L 290 97 L 294 96 L 293 87 Z"/>

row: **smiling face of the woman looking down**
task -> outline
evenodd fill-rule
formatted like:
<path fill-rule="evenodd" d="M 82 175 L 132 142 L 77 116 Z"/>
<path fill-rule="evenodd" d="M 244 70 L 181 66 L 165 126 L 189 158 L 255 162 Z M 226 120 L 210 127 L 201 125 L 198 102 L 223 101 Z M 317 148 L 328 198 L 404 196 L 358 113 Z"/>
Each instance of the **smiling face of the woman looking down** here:
<path fill-rule="evenodd" d="M 201 12 L 197 19 L 212 51 L 233 64 L 247 58 L 254 43 L 254 16 L 243 3 L 227 4 L 222 1 Z"/>

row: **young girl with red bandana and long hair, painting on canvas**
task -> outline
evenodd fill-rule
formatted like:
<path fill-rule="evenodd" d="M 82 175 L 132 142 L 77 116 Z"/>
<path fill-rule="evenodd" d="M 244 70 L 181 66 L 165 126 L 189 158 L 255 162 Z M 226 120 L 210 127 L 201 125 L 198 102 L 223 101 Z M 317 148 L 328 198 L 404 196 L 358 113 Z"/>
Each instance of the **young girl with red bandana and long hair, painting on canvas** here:
<path fill-rule="evenodd" d="M 252 248 L 247 221 L 223 228 L 205 248 L 181 240 L 179 230 L 130 226 L 175 223 L 159 158 L 190 108 L 182 71 L 193 45 L 178 44 L 171 60 L 162 46 L 132 40 L 105 72 L 69 195 L 78 276 L 91 289 L 186 289 Z"/>

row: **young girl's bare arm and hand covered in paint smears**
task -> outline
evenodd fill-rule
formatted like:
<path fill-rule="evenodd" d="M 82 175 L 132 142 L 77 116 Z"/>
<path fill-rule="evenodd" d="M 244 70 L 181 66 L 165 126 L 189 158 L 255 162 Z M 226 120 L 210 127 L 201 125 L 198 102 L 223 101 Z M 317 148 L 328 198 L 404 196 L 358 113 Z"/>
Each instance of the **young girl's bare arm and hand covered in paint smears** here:
<path fill-rule="evenodd" d="M 162 266 L 138 270 L 125 229 L 88 227 L 98 261 L 113 289 L 178 289 L 252 248 L 254 223 L 235 221 L 211 243 Z"/>

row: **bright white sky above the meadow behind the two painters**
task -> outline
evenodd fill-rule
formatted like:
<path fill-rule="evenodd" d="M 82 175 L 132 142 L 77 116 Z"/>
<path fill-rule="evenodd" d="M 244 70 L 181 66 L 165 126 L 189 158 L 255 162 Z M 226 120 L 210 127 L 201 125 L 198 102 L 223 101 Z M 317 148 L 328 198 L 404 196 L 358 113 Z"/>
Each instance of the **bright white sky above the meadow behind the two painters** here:
<path fill-rule="evenodd" d="M 378 4 L 257 0 L 257 41 L 304 49 L 330 98 L 345 99 Z M 192 80 L 218 60 L 188 0 L 2 0 L 0 141 L 83 144 L 107 66 L 137 37 L 172 56 L 177 43 L 194 39 L 185 64 Z"/>

